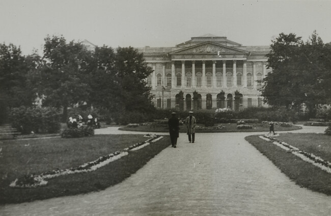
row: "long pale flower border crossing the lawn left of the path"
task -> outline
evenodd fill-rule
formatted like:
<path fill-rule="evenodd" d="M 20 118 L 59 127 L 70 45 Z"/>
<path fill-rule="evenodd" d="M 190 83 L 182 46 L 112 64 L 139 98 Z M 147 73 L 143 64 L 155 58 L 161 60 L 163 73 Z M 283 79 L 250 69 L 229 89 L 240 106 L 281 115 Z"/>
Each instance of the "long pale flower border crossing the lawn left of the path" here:
<path fill-rule="evenodd" d="M 47 181 L 45 179 L 50 179 L 62 175 L 68 175 L 68 174 L 75 174 L 75 173 L 83 173 L 83 172 L 92 172 L 97 170 L 100 167 L 103 167 L 112 161 L 115 161 L 117 159 L 120 159 L 123 156 L 126 156 L 129 154 L 129 151 L 135 151 L 141 148 L 144 148 L 148 146 L 150 143 L 154 143 L 163 137 L 156 134 L 147 134 L 144 137 L 151 137 L 151 139 L 136 143 L 128 148 L 125 148 L 123 151 L 116 151 L 114 153 L 99 157 L 98 159 L 86 163 L 84 165 L 81 165 L 76 168 L 70 168 L 66 170 L 53 170 L 49 172 L 42 173 L 40 175 L 30 175 L 30 176 L 24 176 L 20 179 L 16 178 L 15 181 L 13 181 L 10 186 L 11 187 L 37 187 L 37 186 L 43 186 L 47 184 Z"/>

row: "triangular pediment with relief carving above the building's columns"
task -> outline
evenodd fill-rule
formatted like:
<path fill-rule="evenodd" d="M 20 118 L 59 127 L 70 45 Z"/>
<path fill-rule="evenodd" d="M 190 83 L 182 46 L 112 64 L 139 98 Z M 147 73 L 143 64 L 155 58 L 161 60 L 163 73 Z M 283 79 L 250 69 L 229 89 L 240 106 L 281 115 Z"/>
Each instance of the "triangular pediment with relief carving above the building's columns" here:
<path fill-rule="evenodd" d="M 215 42 L 204 42 L 200 44 L 196 44 L 193 46 L 185 47 L 182 49 L 178 49 L 176 51 L 170 52 L 170 54 L 215 54 L 215 53 L 234 53 L 234 54 L 245 54 L 248 53 L 245 50 L 234 48 L 231 46 L 225 46 L 222 44 L 218 44 Z"/>

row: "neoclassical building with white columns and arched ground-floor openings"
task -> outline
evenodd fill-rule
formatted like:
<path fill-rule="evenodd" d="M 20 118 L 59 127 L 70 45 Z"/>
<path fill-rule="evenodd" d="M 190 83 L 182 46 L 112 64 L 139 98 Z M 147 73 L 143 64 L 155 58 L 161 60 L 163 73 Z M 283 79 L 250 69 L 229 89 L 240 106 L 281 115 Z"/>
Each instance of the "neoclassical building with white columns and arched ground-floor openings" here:
<path fill-rule="evenodd" d="M 242 46 L 203 35 L 175 47 L 137 48 L 153 68 L 148 85 L 159 109 L 241 110 L 263 104 L 259 89 L 269 46 Z"/>

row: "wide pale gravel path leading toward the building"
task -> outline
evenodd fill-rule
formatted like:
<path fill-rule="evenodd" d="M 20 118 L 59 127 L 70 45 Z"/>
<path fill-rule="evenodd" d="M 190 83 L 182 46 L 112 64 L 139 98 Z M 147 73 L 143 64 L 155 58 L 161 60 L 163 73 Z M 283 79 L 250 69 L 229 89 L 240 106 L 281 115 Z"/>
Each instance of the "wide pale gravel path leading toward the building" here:
<path fill-rule="evenodd" d="M 98 133 L 116 132 L 105 130 Z M 122 183 L 86 195 L 1 206 L 0 215 L 330 215 L 331 197 L 290 181 L 244 140 L 250 134 L 197 133 L 192 144 L 181 133 L 178 148 L 164 149 Z"/>

